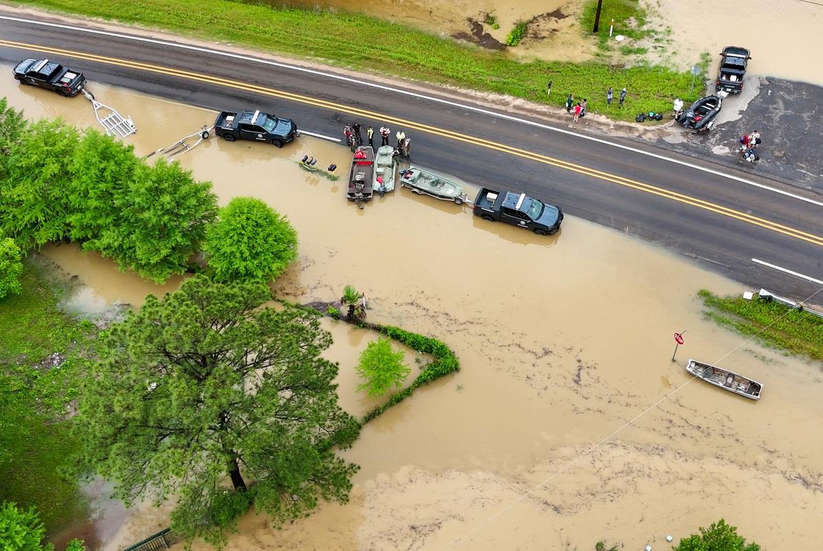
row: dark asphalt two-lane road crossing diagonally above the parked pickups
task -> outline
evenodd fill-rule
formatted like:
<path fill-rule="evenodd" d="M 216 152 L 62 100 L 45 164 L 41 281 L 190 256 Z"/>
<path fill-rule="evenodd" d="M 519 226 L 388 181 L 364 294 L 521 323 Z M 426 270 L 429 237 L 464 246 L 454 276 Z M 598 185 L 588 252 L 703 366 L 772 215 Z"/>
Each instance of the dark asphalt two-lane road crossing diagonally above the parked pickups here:
<path fill-rule="evenodd" d="M 436 90 L 407 90 L 399 81 L 359 81 L 333 69 L 169 44 L 128 30 L 101 32 L 93 23 L 40 20 L 49 26 L 16 17 L 0 10 L 5 65 L 49 57 L 85 72 L 92 90 L 99 81 L 207 109 L 262 109 L 332 137 L 349 121 L 375 132 L 387 123 L 412 137 L 415 164 L 541 197 L 747 285 L 795 299 L 821 286 L 752 258 L 823 280 L 823 197 L 814 192 Z M 823 303 L 821 295 L 814 302 Z"/>

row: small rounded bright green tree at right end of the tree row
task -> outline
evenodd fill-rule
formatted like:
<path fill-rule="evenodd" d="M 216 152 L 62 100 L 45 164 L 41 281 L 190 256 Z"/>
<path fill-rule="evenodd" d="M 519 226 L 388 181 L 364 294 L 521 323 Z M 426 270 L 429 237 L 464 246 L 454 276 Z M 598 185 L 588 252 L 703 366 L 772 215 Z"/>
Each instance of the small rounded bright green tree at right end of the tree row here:
<path fill-rule="evenodd" d="M 203 249 L 215 280 L 270 281 L 297 259 L 297 232 L 263 201 L 235 197 L 209 226 Z"/>

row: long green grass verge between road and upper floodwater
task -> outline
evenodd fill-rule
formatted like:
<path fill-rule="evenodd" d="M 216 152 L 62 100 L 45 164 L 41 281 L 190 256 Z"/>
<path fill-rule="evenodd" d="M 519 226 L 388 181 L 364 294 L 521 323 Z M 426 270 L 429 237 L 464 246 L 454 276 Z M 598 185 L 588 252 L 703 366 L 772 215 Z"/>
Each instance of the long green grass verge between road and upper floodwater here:
<path fill-rule="evenodd" d="M 588 98 L 590 112 L 632 120 L 641 111 L 667 112 L 672 99 L 688 103 L 691 76 L 665 67 L 611 67 L 603 63 L 521 63 L 452 39 L 341 12 L 314 12 L 229 0 L 30 0 L 24 2 L 83 16 L 141 24 L 202 39 L 221 39 L 299 58 L 319 59 L 358 70 L 407 76 L 560 105 L 566 95 Z M 611 15 L 609 16 L 611 17 Z M 608 32 L 608 30 L 607 30 Z M 695 59 L 696 61 L 696 59 Z M 554 94 L 546 97 L 546 82 Z M 625 109 L 606 106 L 606 90 L 624 86 Z"/>

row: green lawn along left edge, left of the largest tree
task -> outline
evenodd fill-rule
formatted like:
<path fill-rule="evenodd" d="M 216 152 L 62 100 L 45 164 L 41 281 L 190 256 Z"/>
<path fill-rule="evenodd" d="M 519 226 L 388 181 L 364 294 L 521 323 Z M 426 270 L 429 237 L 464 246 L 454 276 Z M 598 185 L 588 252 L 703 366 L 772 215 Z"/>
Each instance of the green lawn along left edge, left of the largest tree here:
<path fill-rule="evenodd" d="M 79 445 L 64 416 L 96 330 L 63 313 L 31 266 L 21 284 L 21 294 L 0 302 L 0 502 L 35 505 L 52 532 L 84 505 L 60 470 Z"/>

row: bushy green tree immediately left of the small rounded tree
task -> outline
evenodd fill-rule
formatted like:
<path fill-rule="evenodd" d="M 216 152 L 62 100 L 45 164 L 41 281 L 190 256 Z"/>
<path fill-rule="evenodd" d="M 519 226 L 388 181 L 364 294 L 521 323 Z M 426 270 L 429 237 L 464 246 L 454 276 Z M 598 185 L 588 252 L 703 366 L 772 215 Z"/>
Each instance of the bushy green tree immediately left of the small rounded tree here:
<path fill-rule="evenodd" d="M 135 167 L 119 216 L 89 248 L 157 282 L 182 274 L 200 252 L 217 214 L 212 184 L 198 182 L 177 163 L 158 159 Z"/>

